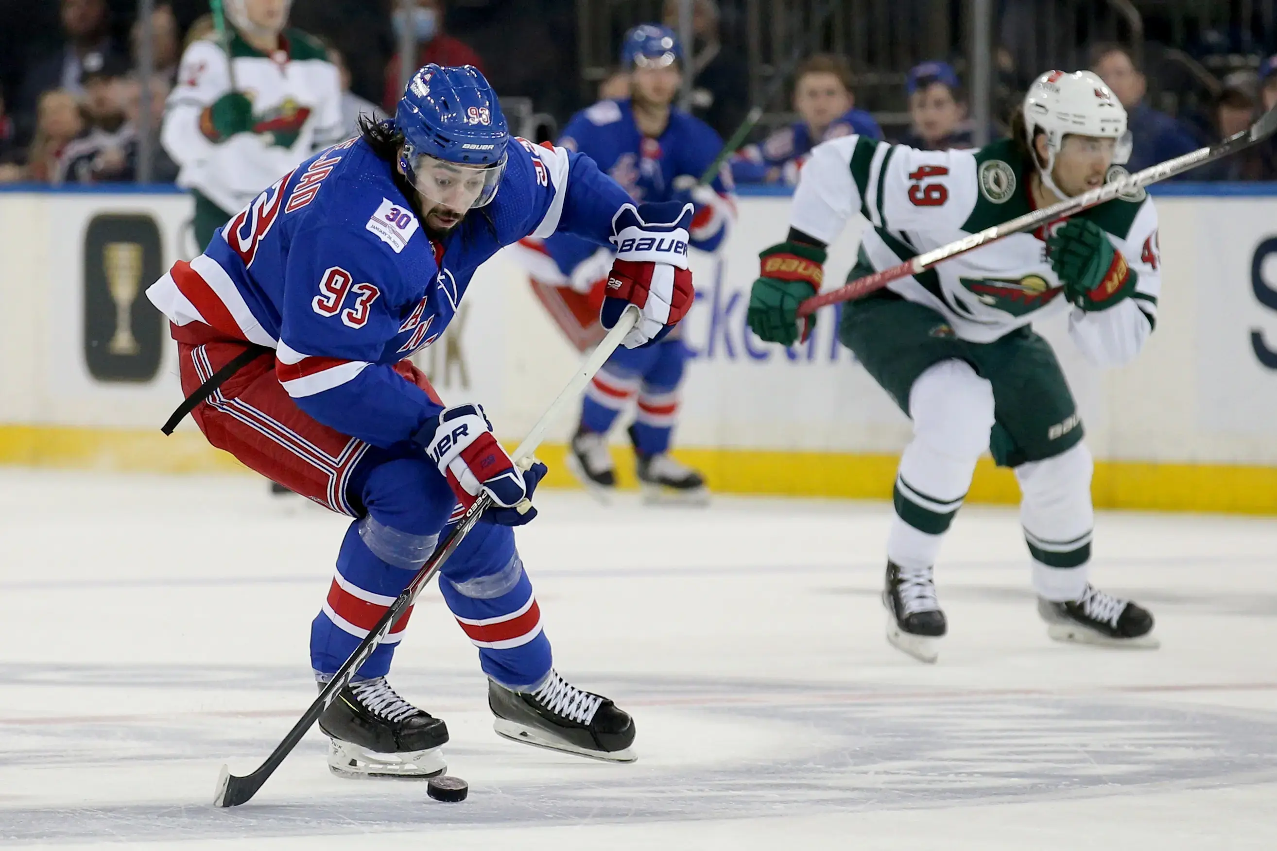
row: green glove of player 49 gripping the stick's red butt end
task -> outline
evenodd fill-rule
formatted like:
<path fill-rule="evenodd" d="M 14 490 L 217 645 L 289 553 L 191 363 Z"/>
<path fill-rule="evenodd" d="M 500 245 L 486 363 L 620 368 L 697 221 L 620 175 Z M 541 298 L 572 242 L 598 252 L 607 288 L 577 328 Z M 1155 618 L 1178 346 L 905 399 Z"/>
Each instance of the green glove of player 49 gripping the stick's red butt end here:
<path fill-rule="evenodd" d="M 820 291 L 825 279 L 825 250 L 801 242 L 780 242 L 759 254 L 759 279 L 750 290 L 746 322 L 761 339 L 782 346 L 807 339 L 816 327 L 811 314 L 798 328 L 798 305 Z"/>

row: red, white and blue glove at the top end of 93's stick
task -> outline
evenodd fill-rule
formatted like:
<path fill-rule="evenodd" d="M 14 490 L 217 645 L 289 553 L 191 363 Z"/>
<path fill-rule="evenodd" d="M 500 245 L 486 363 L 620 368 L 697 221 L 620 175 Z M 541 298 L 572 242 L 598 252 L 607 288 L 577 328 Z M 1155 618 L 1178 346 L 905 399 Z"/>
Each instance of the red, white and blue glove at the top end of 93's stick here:
<path fill-rule="evenodd" d="M 687 315 L 696 291 L 687 268 L 691 204 L 626 204 L 612 219 L 617 259 L 608 274 L 599 320 L 612 328 L 630 305 L 638 324 L 622 341 L 626 348 L 655 343 Z"/>

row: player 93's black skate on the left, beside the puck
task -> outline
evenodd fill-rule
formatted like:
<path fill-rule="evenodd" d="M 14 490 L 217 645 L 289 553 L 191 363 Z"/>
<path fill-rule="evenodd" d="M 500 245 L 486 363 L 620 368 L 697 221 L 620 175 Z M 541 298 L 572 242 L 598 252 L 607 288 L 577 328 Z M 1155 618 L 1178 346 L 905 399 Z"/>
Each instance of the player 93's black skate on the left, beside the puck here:
<path fill-rule="evenodd" d="M 322 689 L 322 685 L 321 685 Z M 448 727 L 395 694 L 384 676 L 350 683 L 319 716 L 338 777 L 434 777 L 447 771 L 439 748 Z"/>

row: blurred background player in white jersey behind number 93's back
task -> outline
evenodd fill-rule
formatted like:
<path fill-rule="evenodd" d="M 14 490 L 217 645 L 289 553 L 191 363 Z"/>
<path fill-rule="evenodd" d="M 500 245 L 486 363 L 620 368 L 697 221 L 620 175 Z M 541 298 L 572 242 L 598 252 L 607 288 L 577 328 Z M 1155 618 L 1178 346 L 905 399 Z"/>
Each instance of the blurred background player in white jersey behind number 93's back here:
<path fill-rule="evenodd" d="M 318 40 L 286 28 L 290 6 L 225 0 L 230 43 L 215 33 L 181 56 L 161 142 L 195 199 L 200 250 L 263 186 L 345 138 L 337 68 Z"/>

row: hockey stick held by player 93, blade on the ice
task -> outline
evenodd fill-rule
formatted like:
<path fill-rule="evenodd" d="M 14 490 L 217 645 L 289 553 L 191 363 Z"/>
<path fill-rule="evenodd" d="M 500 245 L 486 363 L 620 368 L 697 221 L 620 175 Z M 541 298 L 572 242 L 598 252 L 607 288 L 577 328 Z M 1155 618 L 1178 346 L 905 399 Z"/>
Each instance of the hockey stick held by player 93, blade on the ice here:
<path fill-rule="evenodd" d="M 621 319 L 617 322 L 616 327 L 608 332 L 608 336 L 603 338 L 603 342 L 595 347 L 590 356 L 585 359 L 581 366 L 577 367 L 576 374 L 572 380 L 567 383 L 563 392 L 550 402 L 550 406 L 541 415 L 541 418 L 536 421 L 533 430 L 527 433 L 524 441 L 518 444 L 512 455 L 515 463 L 526 462 L 536 452 L 536 447 L 540 445 L 541 440 L 545 438 L 545 430 L 550 427 L 554 420 L 558 418 L 563 411 L 576 402 L 576 399 L 585 392 L 585 385 L 590 383 L 594 374 L 599 371 L 604 361 L 612 356 L 619 346 L 621 341 L 626 334 L 637 324 L 638 322 L 638 309 L 626 307 L 624 313 L 621 314 Z M 527 500 L 524 500 L 526 503 Z M 522 509 L 524 503 L 520 503 Z M 271 755 L 267 757 L 266 762 L 262 763 L 257 771 L 252 774 L 239 777 L 230 772 L 230 768 L 222 766 L 222 773 L 217 778 L 217 792 L 213 796 L 215 806 L 239 806 L 245 803 L 257 790 L 262 788 L 262 785 L 275 773 L 275 769 L 280 767 L 280 763 L 289 755 L 289 753 L 296 746 L 301 737 L 306 735 L 312 725 L 319 720 L 323 711 L 328 708 L 328 704 L 336 699 L 337 693 L 350 681 L 350 677 L 355 675 L 355 671 L 368 661 L 368 657 L 373 655 L 377 646 L 382 643 L 386 634 L 389 633 L 391 626 L 400 619 L 400 616 L 407 611 L 407 607 L 412 605 L 416 596 L 421 593 L 421 589 L 430 583 L 434 574 L 439 572 L 439 568 L 448 556 L 452 555 L 461 540 L 474 528 L 474 524 L 479 522 L 483 513 L 492 507 L 492 498 L 487 492 L 481 494 L 475 504 L 470 507 L 465 517 L 453 527 L 446 538 L 439 544 L 439 547 L 434 551 L 430 559 L 421 565 L 421 569 L 416 572 L 412 581 L 407 584 L 407 588 L 395 598 L 391 607 L 386 610 L 382 619 L 377 621 L 368 637 L 359 643 L 355 652 L 350 655 L 337 672 L 332 675 L 332 679 L 324 685 L 323 692 L 314 703 L 305 711 L 301 718 L 292 725 L 289 730 L 289 735 L 283 737 Z"/>

